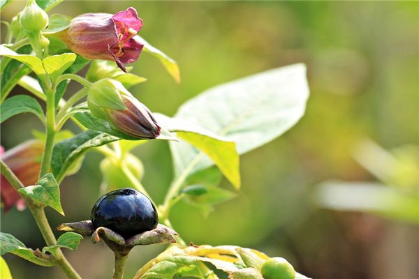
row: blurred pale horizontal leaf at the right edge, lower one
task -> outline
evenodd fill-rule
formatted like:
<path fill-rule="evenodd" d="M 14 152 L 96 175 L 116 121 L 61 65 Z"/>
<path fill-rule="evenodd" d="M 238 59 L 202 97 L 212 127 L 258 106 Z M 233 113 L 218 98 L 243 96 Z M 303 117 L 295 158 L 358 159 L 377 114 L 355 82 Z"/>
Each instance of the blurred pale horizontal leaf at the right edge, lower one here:
<path fill-rule="evenodd" d="M 318 186 L 316 203 L 339 211 L 365 211 L 419 224 L 419 193 L 378 183 L 327 181 Z"/>

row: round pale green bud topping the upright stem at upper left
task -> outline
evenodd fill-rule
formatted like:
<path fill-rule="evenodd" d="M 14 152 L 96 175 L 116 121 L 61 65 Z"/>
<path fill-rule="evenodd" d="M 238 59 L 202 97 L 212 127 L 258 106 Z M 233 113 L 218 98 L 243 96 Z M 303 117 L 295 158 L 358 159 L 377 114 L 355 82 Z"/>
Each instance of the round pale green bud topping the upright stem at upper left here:
<path fill-rule="evenodd" d="M 28 32 L 39 32 L 48 25 L 48 15 L 35 0 L 28 0 L 20 15 L 20 24 Z"/>

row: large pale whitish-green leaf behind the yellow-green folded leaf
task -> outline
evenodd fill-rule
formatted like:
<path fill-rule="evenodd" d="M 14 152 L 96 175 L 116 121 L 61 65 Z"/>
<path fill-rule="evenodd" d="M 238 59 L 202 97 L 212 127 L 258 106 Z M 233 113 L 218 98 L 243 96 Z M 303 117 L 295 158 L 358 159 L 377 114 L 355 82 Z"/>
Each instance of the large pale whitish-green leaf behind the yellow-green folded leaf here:
<path fill-rule="evenodd" d="M 309 96 L 305 70 L 296 64 L 216 86 L 184 103 L 175 117 L 234 141 L 237 152 L 246 153 L 302 117 Z M 213 165 L 208 158 L 197 158 L 200 151 L 186 142 L 170 143 L 170 149 L 176 176 Z"/>

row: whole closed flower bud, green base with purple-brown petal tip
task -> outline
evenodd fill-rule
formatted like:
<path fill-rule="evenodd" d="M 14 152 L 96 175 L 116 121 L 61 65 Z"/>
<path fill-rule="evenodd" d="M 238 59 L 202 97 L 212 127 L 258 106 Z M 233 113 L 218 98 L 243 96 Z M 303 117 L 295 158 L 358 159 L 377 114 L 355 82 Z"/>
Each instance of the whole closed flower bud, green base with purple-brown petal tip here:
<path fill-rule="evenodd" d="M 87 104 L 93 116 L 110 122 L 126 135 L 140 139 L 160 135 L 160 126 L 152 113 L 121 82 L 110 79 L 95 82 L 89 89 Z"/>

